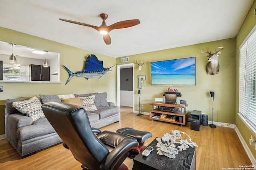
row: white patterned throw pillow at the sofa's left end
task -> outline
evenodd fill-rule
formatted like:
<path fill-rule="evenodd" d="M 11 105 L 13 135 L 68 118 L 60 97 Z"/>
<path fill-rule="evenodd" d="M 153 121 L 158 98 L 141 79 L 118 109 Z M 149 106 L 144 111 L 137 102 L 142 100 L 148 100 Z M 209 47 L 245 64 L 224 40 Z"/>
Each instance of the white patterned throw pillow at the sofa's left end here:
<path fill-rule="evenodd" d="M 41 117 L 45 117 L 41 107 L 42 104 L 37 96 L 34 96 L 28 100 L 13 102 L 12 106 L 24 115 L 31 117 L 33 121 Z"/>

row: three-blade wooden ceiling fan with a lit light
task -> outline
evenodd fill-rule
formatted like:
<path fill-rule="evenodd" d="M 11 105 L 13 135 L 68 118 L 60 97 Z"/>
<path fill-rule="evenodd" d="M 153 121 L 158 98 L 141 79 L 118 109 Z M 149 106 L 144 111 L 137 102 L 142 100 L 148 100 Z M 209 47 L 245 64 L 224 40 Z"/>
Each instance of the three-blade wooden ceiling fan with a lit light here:
<path fill-rule="evenodd" d="M 65 20 L 65 19 L 61 19 L 61 18 L 59 18 L 59 20 L 70 22 L 70 23 L 76 23 L 79 25 L 84 25 L 84 26 L 88 26 L 88 27 L 92 27 L 92 28 L 96 29 L 103 35 L 104 42 L 107 45 L 111 44 L 111 38 L 108 35 L 108 33 L 110 31 L 112 31 L 113 29 L 132 27 L 132 26 L 138 25 L 140 23 L 140 20 L 126 20 L 126 21 L 120 21 L 120 22 L 114 23 L 110 26 L 107 26 L 105 20 L 108 18 L 108 15 L 100 14 L 100 17 L 102 18 L 103 22 L 99 27 L 94 26 L 94 25 L 89 25 L 86 23 L 77 22 L 77 21 Z"/>

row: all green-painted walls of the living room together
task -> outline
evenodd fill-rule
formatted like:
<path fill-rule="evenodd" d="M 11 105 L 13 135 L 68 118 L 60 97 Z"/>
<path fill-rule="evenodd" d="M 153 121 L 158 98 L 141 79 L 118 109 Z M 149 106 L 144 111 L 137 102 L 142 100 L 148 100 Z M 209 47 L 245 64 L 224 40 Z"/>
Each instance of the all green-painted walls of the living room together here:
<path fill-rule="evenodd" d="M 240 120 L 237 113 L 239 111 L 239 47 L 252 28 L 256 25 L 254 1 L 251 9 L 246 16 L 236 38 L 224 39 L 221 41 L 213 41 L 208 43 L 190 45 L 186 47 L 178 47 L 166 49 L 162 51 L 154 51 L 139 55 L 127 56 L 130 63 L 141 59 L 145 60 L 142 70 L 138 70 L 135 65 L 135 110 L 139 110 L 138 91 L 138 75 L 146 75 L 143 88 L 141 89 L 140 104 L 144 105 L 143 112 L 149 112 L 151 106 L 149 103 L 154 102 L 154 98 L 163 98 L 162 94 L 166 92 L 168 87 L 178 89 L 182 93 L 182 97 L 177 100 L 186 100 L 188 111 L 201 110 L 202 113 L 208 114 L 208 120 L 212 120 L 212 98 L 210 91 L 215 92 L 214 98 L 214 121 L 223 123 L 238 123 L 238 130 L 242 134 L 244 141 L 250 148 L 254 158 L 256 151 L 248 144 L 248 139 L 252 135 L 246 125 Z M 60 53 L 60 64 L 66 65 L 70 70 L 76 72 L 84 67 L 86 57 L 95 54 L 99 60 L 104 61 L 104 67 L 112 66 L 120 63 L 120 58 L 114 59 L 109 56 L 100 55 L 90 51 L 78 49 L 54 41 L 42 39 L 32 35 L 20 33 L 10 29 L 0 27 L 0 41 L 16 43 L 37 49 L 46 49 Z M 222 43 L 225 47 L 222 50 L 220 59 L 220 72 L 216 75 L 207 75 L 205 66 L 208 63 L 207 57 L 201 50 L 209 48 L 214 51 Z M 196 57 L 196 86 L 152 86 L 150 80 L 150 62 L 162 61 L 168 59 L 180 59 L 187 57 Z M 127 63 L 125 63 L 127 64 Z M 0 135 L 4 134 L 4 103 L 8 98 L 31 97 L 39 94 L 83 94 L 88 92 L 107 92 L 108 101 L 116 102 L 116 68 L 112 68 L 112 72 L 97 78 L 74 77 L 67 85 L 64 85 L 68 79 L 68 73 L 64 68 L 60 67 L 60 84 L 29 84 L 29 83 L 2 83 L 4 92 L 0 93 Z M 254 136 L 254 139 L 256 137 Z"/>

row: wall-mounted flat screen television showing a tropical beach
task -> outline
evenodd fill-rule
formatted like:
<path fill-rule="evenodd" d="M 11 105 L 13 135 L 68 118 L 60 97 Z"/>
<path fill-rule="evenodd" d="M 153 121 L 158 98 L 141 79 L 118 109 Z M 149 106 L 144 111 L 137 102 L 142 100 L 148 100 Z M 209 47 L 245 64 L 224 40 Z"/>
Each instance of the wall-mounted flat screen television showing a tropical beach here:
<path fill-rule="evenodd" d="M 196 85 L 196 57 L 150 63 L 152 85 Z"/>

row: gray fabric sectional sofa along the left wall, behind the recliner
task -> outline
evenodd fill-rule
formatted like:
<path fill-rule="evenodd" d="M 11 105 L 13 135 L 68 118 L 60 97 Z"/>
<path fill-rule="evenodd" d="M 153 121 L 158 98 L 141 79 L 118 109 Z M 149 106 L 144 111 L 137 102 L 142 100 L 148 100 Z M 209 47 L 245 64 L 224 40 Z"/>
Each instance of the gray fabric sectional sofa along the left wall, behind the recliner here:
<path fill-rule="evenodd" d="M 81 94 L 74 97 L 86 98 L 94 96 L 96 110 L 87 111 L 91 127 L 103 127 L 120 120 L 120 107 L 114 106 L 114 103 L 107 102 L 106 93 Z M 72 98 L 72 95 L 40 95 L 38 99 L 40 104 L 46 102 L 62 102 L 61 98 Z M 35 97 L 35 96 L 34 96 Z M 40 115 L 40 118 L 29 117 L 22 113 L 20 106 L 14 108 L 13 102 L 26 103 L 31 98 L 17 98 L 6 100 L 5 109 L 5 135 L 8 142 L 18 151 L 22 158 L 36 153 L 36 151 L 56 145 L 62 142 L 52 125 L 46 117 Z M 25 106 L 25 105 L 24 105 Z M 16 107 L 16 106 L 15 106 Z M 23 106 L 22 106 L 23 107 Z M 83 107 L 83 106 L 82 106 Z M 19 110 L 19 111 L 18 111 Z M 36 111 L 35 111 L 36 112 Z"/>

